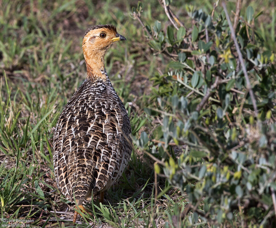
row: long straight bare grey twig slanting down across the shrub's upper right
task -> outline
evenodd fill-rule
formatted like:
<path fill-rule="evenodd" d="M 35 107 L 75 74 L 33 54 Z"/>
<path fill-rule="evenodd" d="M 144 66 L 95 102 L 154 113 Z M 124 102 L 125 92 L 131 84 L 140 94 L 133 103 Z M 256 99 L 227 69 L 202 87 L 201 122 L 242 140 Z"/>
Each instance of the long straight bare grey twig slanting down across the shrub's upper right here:
<path fill-rule="evenodd" d="M 253 104 L 253 108 L 254 108 L 254 114 L 255 114 L 255 117 L 257 117 L 258 116 L 258 109 L 257 109 L 256 99 L 255 99 L 255 96 L 254 96 L 254 93 L 253 93 L 253 90 L 252 90 L 252 87 L 251 87 L 251 84 L 250 84 L 250 80 L 249 80 L 249 77 L 248 77 L 248 74 L 247 74 L 247 71 L 246 71 L 246 68 L 245 68 L 245 65 L 244 65 L 244 60 L 242 58 L 242 53 L 240 51 L 240 47 L 239 47 L 237 39 L 236 39 L 235 31 L 234 31 L 234 28 L 233 28 L 232 23 L 230 21 L 230 17 L 228 15 L 228 11 L 227 11 L 227 8 L 226 8 L 225 1 L 222 1 L 222 7 L 224 9 L 226 19 L 227 19 L 228 25 L 229 25 L 230 30 L 231 30 L 231 36 L 232 36 L 232 39 L 233 39 L 234 44 L 236 46 L 236 50 L 238 52 L 240 63 L 242 65 L 242 71 L 244 72 L 244 77 L 246 79 L 246 87 L 249 91 L 249 94 L 250 94 L 250 97 L 251 97 L 251 100 L 252 100 L 252 104 Z"/>

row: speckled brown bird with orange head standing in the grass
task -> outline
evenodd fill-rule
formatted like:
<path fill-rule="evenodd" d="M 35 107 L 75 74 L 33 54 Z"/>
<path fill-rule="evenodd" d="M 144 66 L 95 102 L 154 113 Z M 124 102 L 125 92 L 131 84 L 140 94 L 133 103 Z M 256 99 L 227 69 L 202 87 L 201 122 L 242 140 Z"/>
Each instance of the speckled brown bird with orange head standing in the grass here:
<path fill-rule="evenodd" d="M 131 152 L 128 113 L 105 69 L 110 46 L 126 38 L 114 25 L 95 25 L 83 36 L 82 50 L 87 77 L 65 105 L 56 124 L 53 162 L 60 192 L 77 209 L 86 211 L 84 200 L 108 190 L 122 175 Z M 93 192 L 93 195 L 92 195 Z"/>

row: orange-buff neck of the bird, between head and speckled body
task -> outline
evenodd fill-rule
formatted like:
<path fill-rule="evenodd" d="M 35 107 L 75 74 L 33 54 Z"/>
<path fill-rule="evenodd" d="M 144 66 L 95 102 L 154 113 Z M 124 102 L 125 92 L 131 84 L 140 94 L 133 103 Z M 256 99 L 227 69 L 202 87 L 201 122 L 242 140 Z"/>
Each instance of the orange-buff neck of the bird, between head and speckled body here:
<path fill-rule="evenodd" d="M 87 78 L 93 81 L 97 79 L 107 80 L 104 55 L 84 53 L 84 59 L 86 63 Z"/>

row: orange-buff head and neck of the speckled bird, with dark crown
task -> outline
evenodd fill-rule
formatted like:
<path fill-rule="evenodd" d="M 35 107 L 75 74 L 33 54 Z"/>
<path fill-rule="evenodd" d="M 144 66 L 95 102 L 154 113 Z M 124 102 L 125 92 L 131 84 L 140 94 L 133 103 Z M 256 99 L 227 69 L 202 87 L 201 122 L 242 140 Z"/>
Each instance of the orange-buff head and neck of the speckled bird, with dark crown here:
<path fill-rule="evenodd" d="M 109 47 L 118 40 L 126 38 L 117 33 L 114 25 L 95 25 L 87 29 L 83 36 L 82 50 L 88 68 L 95 71 L 104 68 L 104 56 Z"/>

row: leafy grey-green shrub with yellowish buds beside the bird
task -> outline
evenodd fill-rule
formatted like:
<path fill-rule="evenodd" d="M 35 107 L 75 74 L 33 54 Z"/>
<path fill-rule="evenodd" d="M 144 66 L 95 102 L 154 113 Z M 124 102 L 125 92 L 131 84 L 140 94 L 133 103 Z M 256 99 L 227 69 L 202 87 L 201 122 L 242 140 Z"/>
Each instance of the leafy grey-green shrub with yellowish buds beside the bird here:
<path fill-rule="evenodd" d="M 136 143 L 157 158 L 155 171 L 188 195 L 175 221 L 184 224 L 191 210 L 186 225 L 275 226 L 276 70 L 254 27 L 261 13 L 249 6 L 235 28 L 245 75 L 222 8 L 187 6 L 189 27 L 169 4 L 164 9 L 168 18 L 151 26 L 143 22 L 142 3 L 132 9 L 150 48 L 168 60 L 163 75 L 151 78 L 155 95 L 144 109 L 161 123 Z"/>

